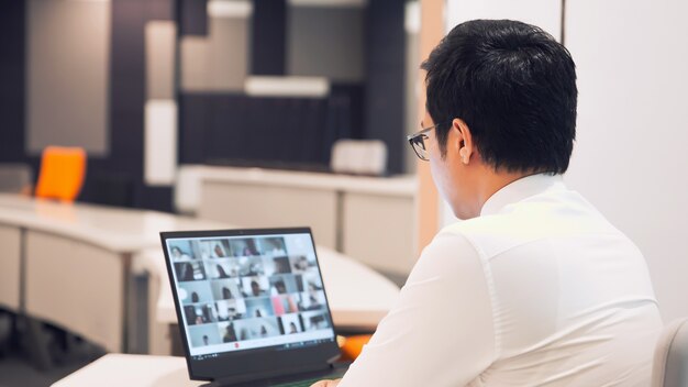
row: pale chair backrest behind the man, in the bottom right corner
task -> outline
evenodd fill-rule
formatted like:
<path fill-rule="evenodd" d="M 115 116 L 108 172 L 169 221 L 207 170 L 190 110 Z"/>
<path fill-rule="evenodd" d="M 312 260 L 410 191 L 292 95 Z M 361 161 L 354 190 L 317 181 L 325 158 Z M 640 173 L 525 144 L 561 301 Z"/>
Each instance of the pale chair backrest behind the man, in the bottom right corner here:
<path fill-rule="evenodd" d="M 688 318 L 664 328 L 652 368 L 652 387 L 688 386 Z"/>

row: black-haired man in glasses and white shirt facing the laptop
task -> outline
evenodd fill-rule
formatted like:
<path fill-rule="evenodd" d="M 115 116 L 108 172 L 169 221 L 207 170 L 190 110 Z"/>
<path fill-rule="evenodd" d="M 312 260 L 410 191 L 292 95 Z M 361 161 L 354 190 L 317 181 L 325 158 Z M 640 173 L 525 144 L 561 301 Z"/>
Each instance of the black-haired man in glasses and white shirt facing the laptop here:
<path fill-rule="evenodd" d="M 662 329 L 644 258 L 566 188 L 576 73 L 514 21 L 456 26 L 410 136 L 466 221 L 421 254 L 344 378 L 317 386 L 648 386 Z"/>

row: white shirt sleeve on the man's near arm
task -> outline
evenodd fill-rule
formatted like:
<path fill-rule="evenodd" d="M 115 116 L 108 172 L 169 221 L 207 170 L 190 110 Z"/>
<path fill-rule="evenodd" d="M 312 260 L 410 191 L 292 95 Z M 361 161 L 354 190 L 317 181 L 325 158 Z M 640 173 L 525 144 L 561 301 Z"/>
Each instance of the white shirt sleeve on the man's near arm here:
<path fill-rule="evenodd" d="M 496 356 L 488 279 L 465 236 L 437 234 L 340 387 L 469 384 Z"/>

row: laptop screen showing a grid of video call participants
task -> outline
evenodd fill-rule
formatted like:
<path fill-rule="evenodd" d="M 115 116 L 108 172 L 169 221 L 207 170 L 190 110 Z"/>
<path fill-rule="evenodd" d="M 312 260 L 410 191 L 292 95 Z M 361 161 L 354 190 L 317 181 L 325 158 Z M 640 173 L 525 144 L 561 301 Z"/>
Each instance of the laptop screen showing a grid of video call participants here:
<path fill-rule="evenodd" d="M 335 338 L 308 230 L 165 239 L 191 360 Z"/>

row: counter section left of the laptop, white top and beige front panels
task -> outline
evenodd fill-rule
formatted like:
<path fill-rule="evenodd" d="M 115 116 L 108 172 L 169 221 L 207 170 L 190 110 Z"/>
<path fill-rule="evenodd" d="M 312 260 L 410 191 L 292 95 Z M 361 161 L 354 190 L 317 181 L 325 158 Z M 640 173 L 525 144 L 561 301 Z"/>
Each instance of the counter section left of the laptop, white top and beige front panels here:
<path fill-rule="evenodd" d="M 160 231 L 223 226 L 153 211 L 0 195 L 0 242 L 9 246 L 0 259 L 0 268 L 8 268 L 0 272 L 2 301 L 108 351 L 136 351 L 133 255 L 159 246 Z M 11 289 L 5 294 L 4 287 Z"/>

